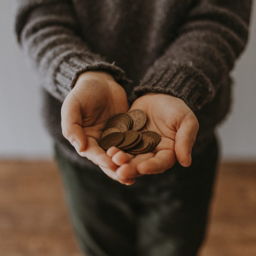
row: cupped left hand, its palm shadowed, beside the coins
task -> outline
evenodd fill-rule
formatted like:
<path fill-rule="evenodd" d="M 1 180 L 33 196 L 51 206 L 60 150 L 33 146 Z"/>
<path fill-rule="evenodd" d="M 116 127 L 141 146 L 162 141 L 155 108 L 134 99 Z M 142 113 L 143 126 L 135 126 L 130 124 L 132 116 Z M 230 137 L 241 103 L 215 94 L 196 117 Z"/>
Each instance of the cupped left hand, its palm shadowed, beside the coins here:
<path fill-rule="evenodd" d="M 64 137 L 79 155 L 93 161 L 114 180 L 117 180 L 117 165 L 98 146 L 98 141 L 109 118 L 127 110 L 123 87 L 103 71 L 87 71 L 80 75 L 61 108 Z"/>

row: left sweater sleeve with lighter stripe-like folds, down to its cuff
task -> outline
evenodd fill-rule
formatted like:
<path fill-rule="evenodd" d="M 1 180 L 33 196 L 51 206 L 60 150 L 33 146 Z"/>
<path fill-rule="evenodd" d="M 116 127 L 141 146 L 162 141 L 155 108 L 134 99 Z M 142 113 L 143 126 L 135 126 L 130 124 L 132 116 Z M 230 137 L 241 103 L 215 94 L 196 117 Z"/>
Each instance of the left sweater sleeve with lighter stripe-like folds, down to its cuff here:
<path fill-rule="evenodd" d="M 15 4 L 18 42 L 53 97 L 63 101 L 87 70 L 107 71 L 121 86 L 132 82 L 114 62 L 91 52 L 79 37 L 70 1 L 16 0 Z"/>

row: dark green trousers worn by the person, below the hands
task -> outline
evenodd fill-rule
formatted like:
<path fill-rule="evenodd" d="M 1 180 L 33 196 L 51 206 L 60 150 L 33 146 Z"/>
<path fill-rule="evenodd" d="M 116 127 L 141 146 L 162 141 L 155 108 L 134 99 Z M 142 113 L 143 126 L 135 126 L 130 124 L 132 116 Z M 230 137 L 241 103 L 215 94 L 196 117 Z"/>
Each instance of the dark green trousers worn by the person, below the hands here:
<path fill-rule="evenodd" d="M 55 147 L 69 212 L 86 256 L 195 256 L 204 238 L 218 147 L 215 136 L 190 167 L 142 176 L 131 186 Z"/>

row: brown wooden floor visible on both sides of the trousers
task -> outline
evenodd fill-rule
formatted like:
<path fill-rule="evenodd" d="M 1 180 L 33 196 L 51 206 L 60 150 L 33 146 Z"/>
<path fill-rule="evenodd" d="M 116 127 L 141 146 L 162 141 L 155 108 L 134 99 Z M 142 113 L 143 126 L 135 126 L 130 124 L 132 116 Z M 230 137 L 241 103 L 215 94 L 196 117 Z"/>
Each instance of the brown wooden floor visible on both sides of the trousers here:
<path fill-rule="evenodd" d="M 81 256 L 52 161 L 0 161 L 0 255 Z M 219 166 L 200 256 L 256 256 L 256 162 Z"/>

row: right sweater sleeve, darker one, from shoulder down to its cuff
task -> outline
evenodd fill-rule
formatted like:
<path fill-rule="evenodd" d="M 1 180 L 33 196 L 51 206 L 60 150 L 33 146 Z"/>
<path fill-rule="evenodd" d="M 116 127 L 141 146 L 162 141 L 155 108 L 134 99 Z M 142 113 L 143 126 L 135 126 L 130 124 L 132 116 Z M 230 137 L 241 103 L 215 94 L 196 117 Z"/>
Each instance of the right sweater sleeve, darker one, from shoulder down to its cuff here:
<path fill-rule="evenodd" d="M 245 48 L 251 0 L 200 0 L 177 37 L 134 87 L 132 102 L 145 92 L 181 98 L 193 111 L 210 102 Z"/>

